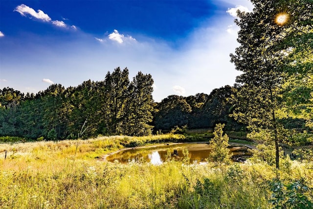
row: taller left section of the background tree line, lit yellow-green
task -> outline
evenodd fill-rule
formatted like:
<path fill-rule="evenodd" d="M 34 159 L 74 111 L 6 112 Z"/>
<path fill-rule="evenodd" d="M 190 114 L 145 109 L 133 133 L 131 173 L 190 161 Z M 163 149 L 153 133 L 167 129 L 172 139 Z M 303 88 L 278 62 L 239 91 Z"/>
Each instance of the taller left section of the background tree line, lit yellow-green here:
<path fill-rule="evenodd" d="M 36 95 L 0 90 L 0 136 L 76 139 L 98 135 L 149 135 L 152 131 L 153 79 L 114 69 L 103 81 L 77 87 L 53 84 Z"/>

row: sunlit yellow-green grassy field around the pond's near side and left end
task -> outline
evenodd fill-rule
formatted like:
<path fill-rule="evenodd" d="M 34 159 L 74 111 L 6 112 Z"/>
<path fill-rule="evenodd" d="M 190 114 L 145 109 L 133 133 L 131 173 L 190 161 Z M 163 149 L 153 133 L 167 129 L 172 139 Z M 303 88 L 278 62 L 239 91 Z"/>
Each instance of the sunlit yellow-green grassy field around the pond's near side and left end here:
<path fill-rule="evenodd" d="M 125 165 L 102 159 L 125 147 L 185 140 L 168 134 L 2 143 L 0 208 L 268 209 L 292 208 L 292 201 L 309 207 L 313 200 L 313 169 L 288 158 L 280 171 L 263 162 Z"/>

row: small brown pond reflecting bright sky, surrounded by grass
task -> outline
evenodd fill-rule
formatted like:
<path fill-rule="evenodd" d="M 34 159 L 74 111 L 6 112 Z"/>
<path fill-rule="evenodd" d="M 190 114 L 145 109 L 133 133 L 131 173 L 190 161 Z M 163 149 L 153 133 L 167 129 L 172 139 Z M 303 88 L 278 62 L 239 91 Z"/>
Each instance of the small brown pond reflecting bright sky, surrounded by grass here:
<path fill-rule="evenodd" d="M 211 152 L 211 146 L 208 143 L 179 143 L 168 144 L 153 147 L 131 148 L 121 150 L 107 157 L 107 161 L 119 163 L 152 163 L 162 164 L 168 158 L 168 150 L 171 153 L 171 158 L 177 161 L 183 159 L 182 151 L 188 149 L 190 163 L 206 162 Z M 242 144 L 229 143 L 229 152 L 233 154 L 233 160 L 245 161 L 251 153 L 247 152 L 248 147 Z"/>

